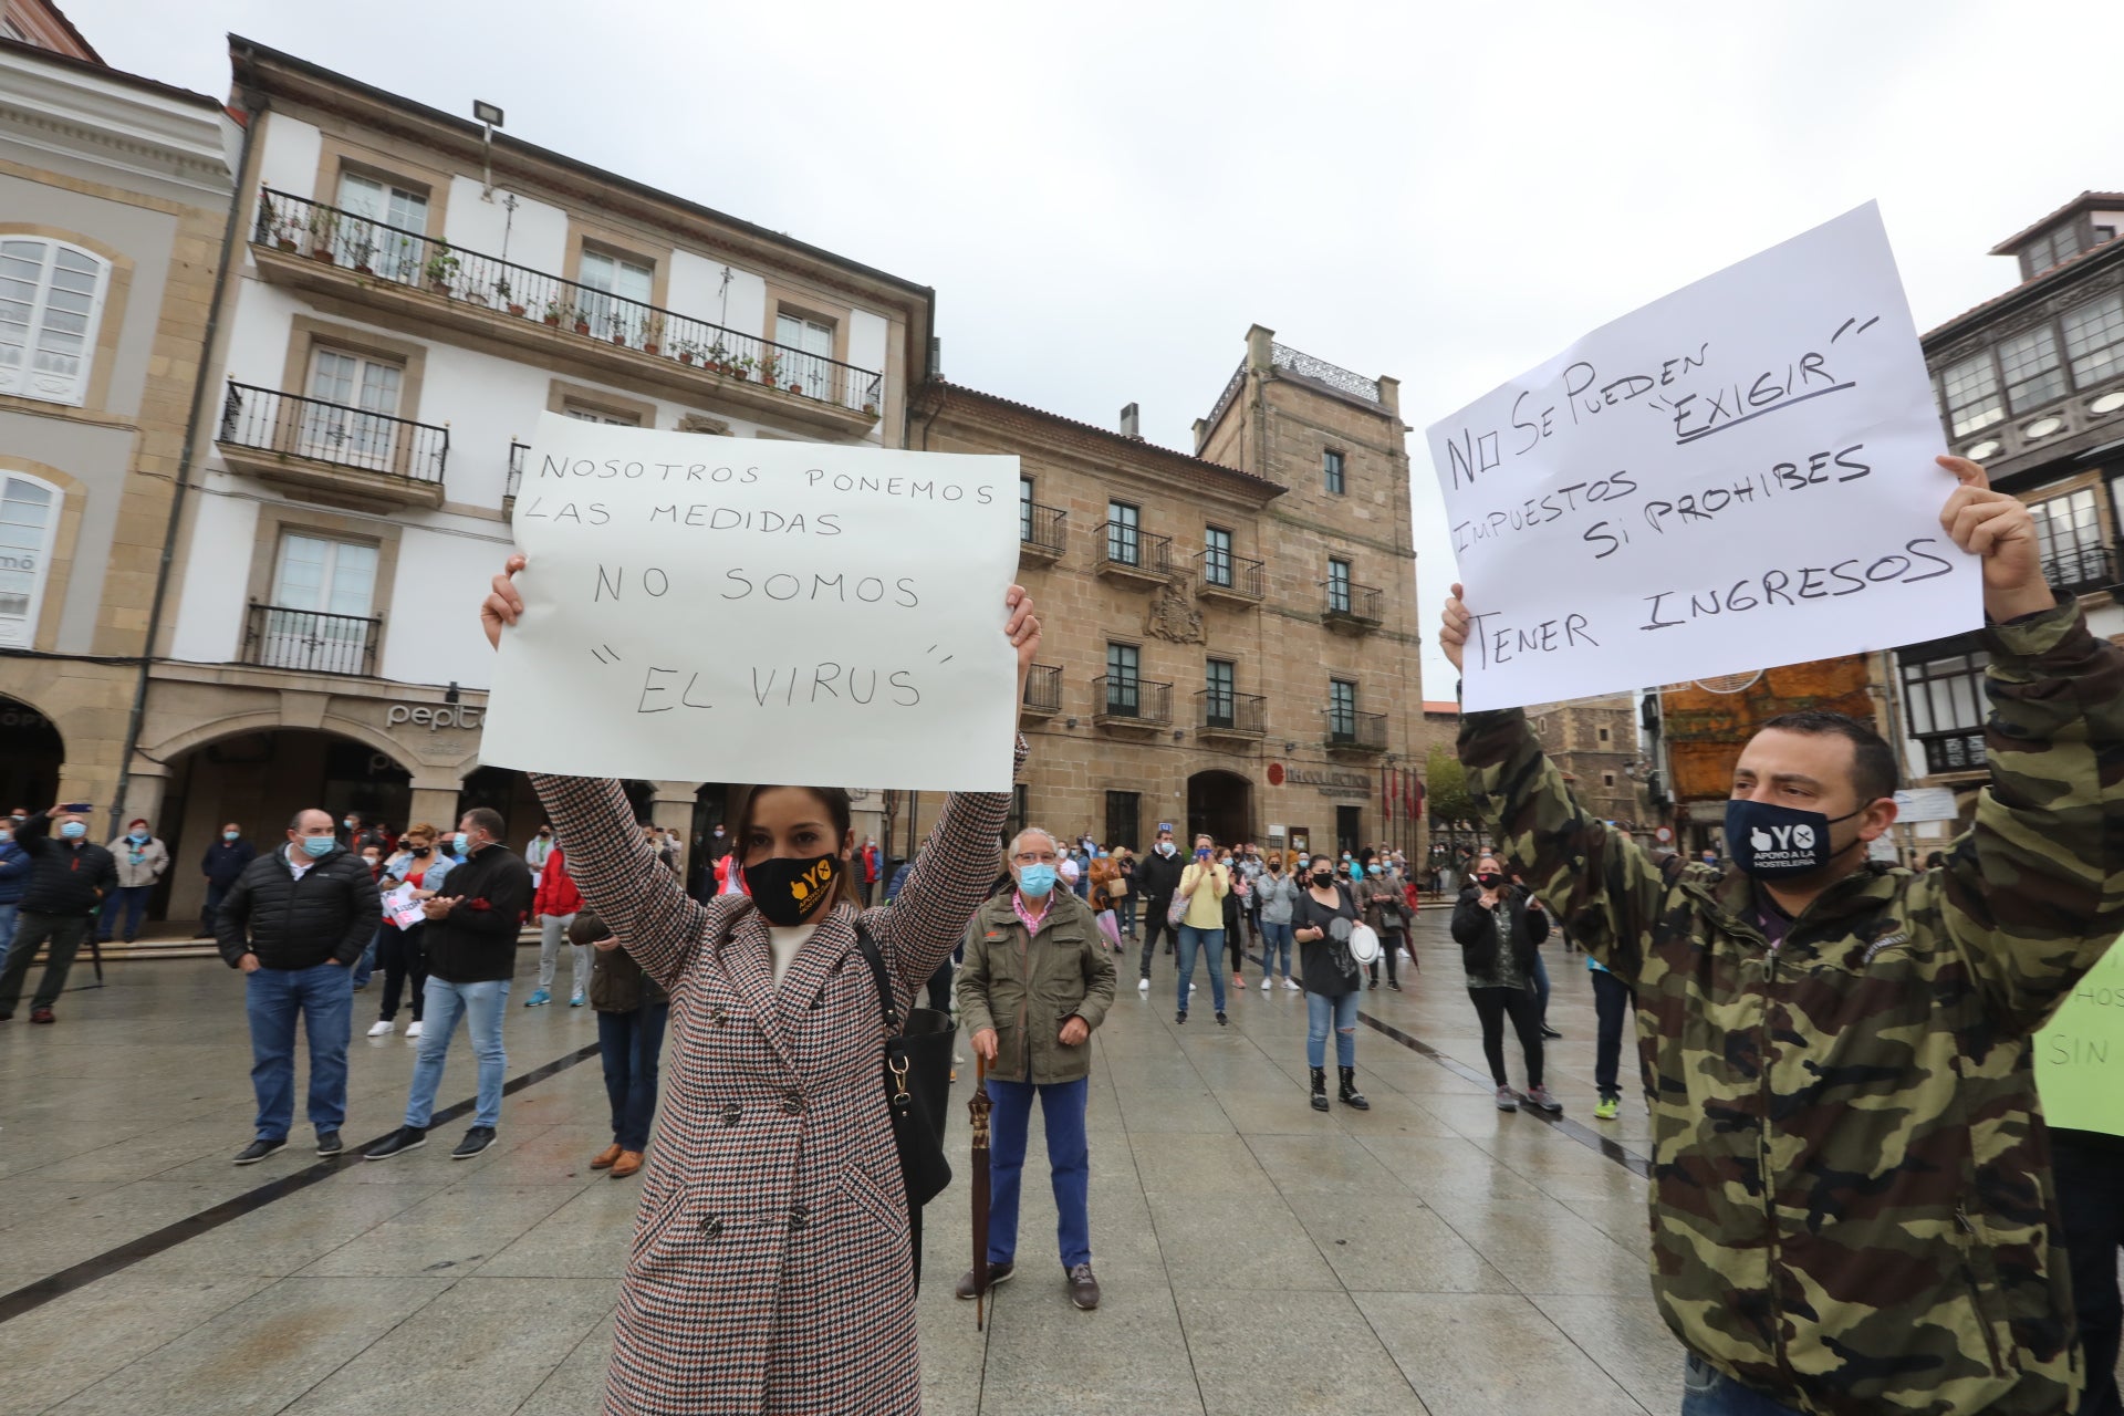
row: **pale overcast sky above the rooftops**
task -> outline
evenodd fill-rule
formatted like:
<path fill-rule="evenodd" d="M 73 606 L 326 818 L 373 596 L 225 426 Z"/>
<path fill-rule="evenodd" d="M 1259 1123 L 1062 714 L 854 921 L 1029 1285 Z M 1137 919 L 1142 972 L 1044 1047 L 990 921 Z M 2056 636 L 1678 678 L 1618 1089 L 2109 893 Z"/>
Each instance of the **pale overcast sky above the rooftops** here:
<path fill-rule="evenodd" d="M 227 93 L 238 32 L 937 287 L 947 378 L 1189 446 L 1247 325 L 1402 380 L 1425 694 L 1453 580 L 1427 422 L 1878 197 L 1918 329 L 2124 187 L 2124 4 L 64 0 Z M 1627 13 L 1625 13 L 1627 11 Z"/>

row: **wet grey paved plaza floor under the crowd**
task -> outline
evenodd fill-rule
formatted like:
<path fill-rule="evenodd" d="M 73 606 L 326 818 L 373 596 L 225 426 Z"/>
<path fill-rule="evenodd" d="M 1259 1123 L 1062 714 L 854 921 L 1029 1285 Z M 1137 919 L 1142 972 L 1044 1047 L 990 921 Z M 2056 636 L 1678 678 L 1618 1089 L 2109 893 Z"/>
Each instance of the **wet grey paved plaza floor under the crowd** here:
<path fill-rule="evenodd" d="M 1039 1125 L 1020 1274 L 988 1331 L 952 1299 L 971 1255 L 956 1106 L 960 1180 L 928 1210 L 924 1410 L 1676 1412 L 1680 1350 L 1646 1291 L 1635 1059 L 1623 1117 L 1593 1121 L 1582 957 L 1544 951 L 1563 1030 L 1551 1123 L 1495 1110 L 1444 911 L 1423 911 L 1417 949 L 1408 991 L 1364 998 L 1372 1110 L 1325 1117 L 1306 1102 L 1302 994 L 1249 974 L 1219 1028 L 1204 981 L 1177 1028 L 1172 964 L 1147 998 L 1124 964 L 1094 1034 L 1098 1312 L 1062 1291 Z M 535 962 L 525 949 L 516 998 Z M 459 1115 L 438 1121 L 444 1144 L 365 1163 L 353 1149 L 397 1125 L 412 1072 L 404 1034 L 359 1036 L 376 987 L 355 998 L 340 1161 L 297 1129 L 266 1163 L 229 1163 L 251 1138 L 249 1040 L 219 962 L 119 964 L 62 1000 L 59 1025 L 0 1028 L 0 1416 L 599 1410 L 639 1182 L 588 1170 L 610 1140 L 595 1017 L 512 1004 L 486 1155 L 448 1159 Z M 459 1040 L 442 1100 L 469 1093 Z"/>

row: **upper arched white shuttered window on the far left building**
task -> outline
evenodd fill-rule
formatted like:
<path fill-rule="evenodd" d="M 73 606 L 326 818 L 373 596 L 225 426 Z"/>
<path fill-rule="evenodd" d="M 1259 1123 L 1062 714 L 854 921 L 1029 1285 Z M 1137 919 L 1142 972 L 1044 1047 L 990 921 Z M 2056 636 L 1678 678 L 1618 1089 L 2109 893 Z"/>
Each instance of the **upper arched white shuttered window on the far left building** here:
<path fill-rule="evenodd" d="M 59 240 L 0 238 L 0 393 L 83 403 L 110 263 Z"/>

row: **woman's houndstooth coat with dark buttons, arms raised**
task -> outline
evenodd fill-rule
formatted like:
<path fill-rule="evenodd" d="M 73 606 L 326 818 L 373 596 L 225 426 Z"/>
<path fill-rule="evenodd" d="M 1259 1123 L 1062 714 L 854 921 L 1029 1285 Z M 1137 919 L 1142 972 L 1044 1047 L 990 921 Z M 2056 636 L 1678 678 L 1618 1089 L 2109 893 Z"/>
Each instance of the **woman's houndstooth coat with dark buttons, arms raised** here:
<path fill-rule="evenodd" d="M 777 989 L 752 900 L 690 900 L 616 781 L 533 783 L 584 900 L 671 994 L 607 1416 L 920 1412 L 886 1034 L 856 911 L 835 906 Z M 896 902 L 862 913 L 903 1011 L 994 881 L 1007 811 L 1005 794 L 952 796 Z"/>

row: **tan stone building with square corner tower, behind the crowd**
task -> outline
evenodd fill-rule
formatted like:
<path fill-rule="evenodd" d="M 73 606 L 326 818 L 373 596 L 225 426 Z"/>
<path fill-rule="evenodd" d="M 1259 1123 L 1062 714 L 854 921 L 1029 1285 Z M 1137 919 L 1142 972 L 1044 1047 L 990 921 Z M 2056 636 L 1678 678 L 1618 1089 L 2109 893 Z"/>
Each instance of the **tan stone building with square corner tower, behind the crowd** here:
<path fill-rule="evenodd" d="M 1022 465 L 1020 580 L 1045 641 L 1020 819 L 1132 847 L 1170 822 L 1417 849 L 1419 813 L 1389 792 L 1423 743 L 1393 380 L 1255 327 L 1194 452 L 1143 442 L 1134 408 L 1113 431 L 941 380 L 911 429 L 913 448 Z"/>

